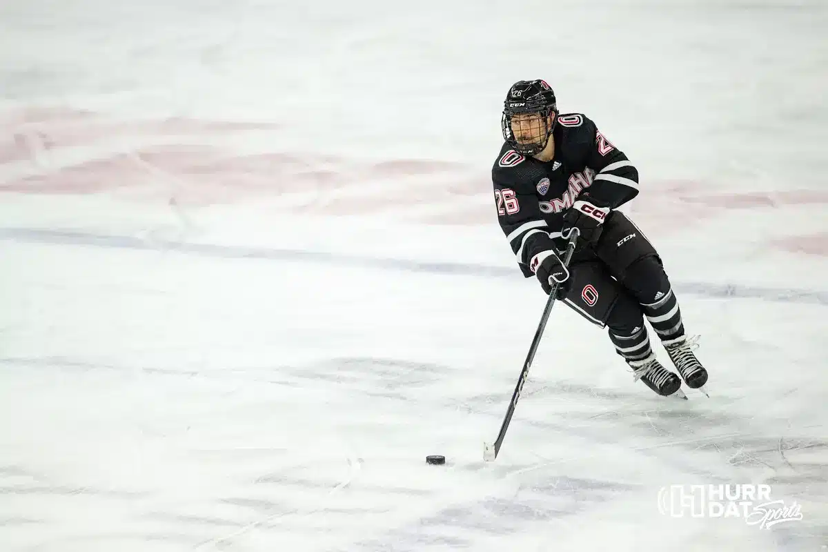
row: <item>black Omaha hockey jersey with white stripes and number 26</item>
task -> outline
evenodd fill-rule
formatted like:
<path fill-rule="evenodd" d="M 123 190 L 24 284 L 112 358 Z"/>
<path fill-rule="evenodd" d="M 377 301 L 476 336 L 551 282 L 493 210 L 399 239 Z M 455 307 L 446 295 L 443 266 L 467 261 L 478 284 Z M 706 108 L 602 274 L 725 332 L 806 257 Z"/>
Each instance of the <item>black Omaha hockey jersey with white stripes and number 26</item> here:
<path fill-rule="evenodd" d="M 638 195 L 638 170 L 582 113 L 559 115 L 555 156 L 538 161 L 503 144 L 492 167 L 500 227 L 524 276 L 537 253 L 561 251 L 563 216 L 585 188 L 616 209 Z"/>

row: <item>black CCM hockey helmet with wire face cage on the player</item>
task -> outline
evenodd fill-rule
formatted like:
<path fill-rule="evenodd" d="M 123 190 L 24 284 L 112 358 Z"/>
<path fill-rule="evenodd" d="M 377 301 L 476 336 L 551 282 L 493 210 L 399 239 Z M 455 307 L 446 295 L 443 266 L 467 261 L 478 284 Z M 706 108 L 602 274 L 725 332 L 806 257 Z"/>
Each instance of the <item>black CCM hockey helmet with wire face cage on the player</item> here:
<path fill-rule="evenodd" d="M 512 130 L 512 118 L 520 114 L 537 113 L 537 124 L 540 125 L 541 138 L 537 142 L 517 142 Z M 546 147 L 552 129 L 557 121 L 558 107 L 555 98 L 555 91 L 551 89 L 545 80 L 519 80 L 512 85 L 506 94 L 506 101 L 503 102 L 503 116 L 500 118 L 500 128 L 503 131 L 503 139 L 512 146 L 515 151 L 525 156 L 533 156 Z M 546 118 L 551 117 L 551 123 Z"/>

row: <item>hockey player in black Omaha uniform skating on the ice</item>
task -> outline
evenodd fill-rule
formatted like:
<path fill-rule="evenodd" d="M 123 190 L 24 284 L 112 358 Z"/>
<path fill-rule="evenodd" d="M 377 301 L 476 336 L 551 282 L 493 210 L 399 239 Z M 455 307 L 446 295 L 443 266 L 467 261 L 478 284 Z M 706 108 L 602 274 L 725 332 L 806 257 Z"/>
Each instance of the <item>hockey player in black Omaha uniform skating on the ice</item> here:
<path fill-rule="evenodd" d="M 513 84 L 504 102 L 505 143 L 492 169 L 503 233 L 523 275 L 546 294 L 609 329 L 609 340 L 641 379 L 662 396 L 681 393 L 681 379 L 652 351 L 647 317 L 687 386 L 707 382 L 692 352 L 676 294 L 650 241 L 617 209 L 638 195 L 638 170 L 582 113 L 558 112 L 543 80 Z M 578 228 L 569 267 L 561 261 L 570 228 Z"/>

